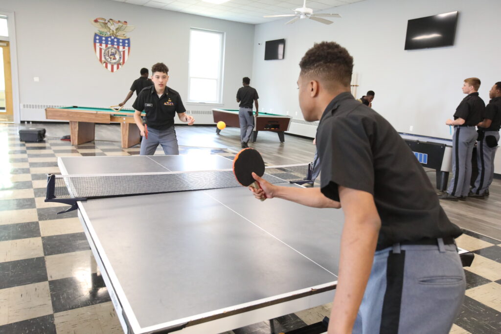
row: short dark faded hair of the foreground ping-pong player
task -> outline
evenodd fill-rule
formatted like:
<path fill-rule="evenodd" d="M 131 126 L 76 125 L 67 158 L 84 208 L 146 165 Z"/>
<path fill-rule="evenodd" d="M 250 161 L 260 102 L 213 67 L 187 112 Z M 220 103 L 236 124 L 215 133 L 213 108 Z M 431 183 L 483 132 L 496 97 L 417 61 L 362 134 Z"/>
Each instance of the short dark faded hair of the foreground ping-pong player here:
<path fill-rule="evenodd" d="M 335 42 L 315 43 L 299 63 L 301 76 L 350 87 L 353 57 Z"/>

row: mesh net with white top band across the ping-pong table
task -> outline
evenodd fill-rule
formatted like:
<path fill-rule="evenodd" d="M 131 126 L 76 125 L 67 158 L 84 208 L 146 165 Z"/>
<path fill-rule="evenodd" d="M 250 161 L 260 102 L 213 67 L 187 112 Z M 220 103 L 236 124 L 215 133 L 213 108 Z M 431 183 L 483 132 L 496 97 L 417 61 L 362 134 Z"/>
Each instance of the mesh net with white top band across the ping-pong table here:
<path fill-rule="evenodd" d="M 266 167 L 263 178 L 270 183 L 303 180 L 308 164 Z M 75 204 L 76 201 L 146 195 L 177 191 L 240 187 L 232 169 L 90 175 L 49 175 L 47 202 Z"/>

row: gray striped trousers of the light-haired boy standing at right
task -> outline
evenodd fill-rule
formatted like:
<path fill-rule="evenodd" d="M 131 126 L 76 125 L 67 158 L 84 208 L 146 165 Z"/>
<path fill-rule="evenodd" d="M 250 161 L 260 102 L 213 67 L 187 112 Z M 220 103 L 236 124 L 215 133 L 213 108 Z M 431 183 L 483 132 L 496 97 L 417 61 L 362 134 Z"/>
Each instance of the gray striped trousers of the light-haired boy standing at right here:
<path fill-rule="evenodd" d="M 468 196 L 471 179 L 471 154 L 475 145 L 474 126 L 454 126 L 452 136 L 452 179 L 447 193 L 452 196 Z"/>

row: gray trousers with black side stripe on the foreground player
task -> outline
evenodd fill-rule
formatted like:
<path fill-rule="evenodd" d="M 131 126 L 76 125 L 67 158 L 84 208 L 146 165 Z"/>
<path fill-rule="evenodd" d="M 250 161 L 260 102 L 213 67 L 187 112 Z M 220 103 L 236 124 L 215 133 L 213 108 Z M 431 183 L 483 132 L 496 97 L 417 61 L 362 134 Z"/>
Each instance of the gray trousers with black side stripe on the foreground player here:
<path fill-rule="evenodd" d="M 466 280 L 456 245 L 400 245 L 374 254 L 352 334 L 447 334 Z"/>

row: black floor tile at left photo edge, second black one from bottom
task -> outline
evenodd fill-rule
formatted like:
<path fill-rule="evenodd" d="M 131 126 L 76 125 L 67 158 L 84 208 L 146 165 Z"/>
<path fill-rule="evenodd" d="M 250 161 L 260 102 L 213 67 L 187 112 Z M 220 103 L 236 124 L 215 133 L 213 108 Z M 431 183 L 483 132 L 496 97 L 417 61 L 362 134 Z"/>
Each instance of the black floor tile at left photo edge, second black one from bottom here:
<path fill-rule="evenodd" d="M 47 268 L 43 256 L 0 263 L 0 289 L 46 280 Z"/>

